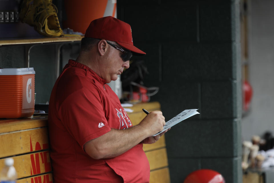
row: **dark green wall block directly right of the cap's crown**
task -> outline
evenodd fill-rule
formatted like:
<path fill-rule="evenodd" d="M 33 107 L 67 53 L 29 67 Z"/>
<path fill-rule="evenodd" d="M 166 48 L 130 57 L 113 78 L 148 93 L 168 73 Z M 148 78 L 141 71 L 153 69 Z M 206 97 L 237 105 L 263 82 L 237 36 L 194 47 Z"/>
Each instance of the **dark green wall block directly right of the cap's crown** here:
<path fill-rule="evenodd" d="M 196 41 L 196 5 L 128 5 L 124 15 L 134 42 Z"/>

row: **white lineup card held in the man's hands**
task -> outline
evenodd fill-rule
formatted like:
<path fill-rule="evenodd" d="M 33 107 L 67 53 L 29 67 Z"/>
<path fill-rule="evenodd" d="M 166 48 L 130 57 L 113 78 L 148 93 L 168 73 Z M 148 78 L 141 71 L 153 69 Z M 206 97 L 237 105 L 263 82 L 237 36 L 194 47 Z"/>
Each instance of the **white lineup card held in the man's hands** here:
<path fill-rule="evenodd" d="M 177 123 L 180 123 L 181 121 L 194 116 L 195 114 L 200 114 L 199 112 L 197 112 L 198 109 L 186 109 L 183 112 L 181 112 L 180 114 L 178 114 L 177 116 L 175 116 L 174 118 L 172 118 L 171 120 L 166 122 L 166 125 L 164 126 L 164 130 L 162 130 L 161 132 L 155 134 L 154 136 L 164 132 L 165 130 L 167 130 L 168 128 L 176 125 Z"/>

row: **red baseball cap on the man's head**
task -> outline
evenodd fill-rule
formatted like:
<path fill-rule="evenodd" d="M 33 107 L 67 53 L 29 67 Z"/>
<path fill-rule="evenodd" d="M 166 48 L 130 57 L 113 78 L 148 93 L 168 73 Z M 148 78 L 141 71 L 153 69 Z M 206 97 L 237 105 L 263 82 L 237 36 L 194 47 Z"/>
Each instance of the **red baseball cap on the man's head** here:
<path fill-rule="evenodd" d="M 133 45 L 130 25 L 112 16 L 102 17 L 91 21 L 86 29 L 85 37 L 115 41 L 122 47 L 131 51 L 133 55 L 146 54 Z"/>

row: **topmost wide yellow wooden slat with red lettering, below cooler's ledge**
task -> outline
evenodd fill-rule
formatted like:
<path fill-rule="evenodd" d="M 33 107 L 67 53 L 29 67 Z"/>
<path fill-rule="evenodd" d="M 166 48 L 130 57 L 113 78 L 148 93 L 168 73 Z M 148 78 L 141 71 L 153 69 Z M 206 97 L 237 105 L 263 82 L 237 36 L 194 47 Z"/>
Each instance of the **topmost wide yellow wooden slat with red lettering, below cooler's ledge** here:
<path fill-rule="evenodd" d="M 40 147 L 37 146 L 37 142 Z M 0 134 L 0 158 L 49 148 L 47 128 Z"/>

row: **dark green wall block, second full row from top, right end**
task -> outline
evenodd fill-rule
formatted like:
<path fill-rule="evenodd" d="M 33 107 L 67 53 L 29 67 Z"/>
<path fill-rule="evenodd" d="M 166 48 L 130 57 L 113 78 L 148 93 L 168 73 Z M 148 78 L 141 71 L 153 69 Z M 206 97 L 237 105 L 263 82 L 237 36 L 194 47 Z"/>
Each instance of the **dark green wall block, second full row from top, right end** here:
<path fill-rule="evenodd" d="M 223 80 L 232 77 L 231 43 L 179 43 L 162 45 L 163 78 Z"/>

